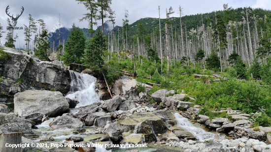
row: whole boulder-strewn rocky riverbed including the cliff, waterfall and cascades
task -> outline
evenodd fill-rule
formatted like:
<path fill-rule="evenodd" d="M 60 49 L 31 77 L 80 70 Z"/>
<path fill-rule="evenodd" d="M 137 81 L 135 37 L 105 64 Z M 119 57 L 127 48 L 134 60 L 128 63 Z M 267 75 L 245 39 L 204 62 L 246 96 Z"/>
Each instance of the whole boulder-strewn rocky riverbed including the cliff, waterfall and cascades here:
<path fill-rule="evenodd" d="M 11 59 L 0 65 L 7 72 L 0 83 L 1 148 L 7 135 L 19 132 L 14 142 L 48 145 L 23 152 L 271 152 L 271 127 L 251 128 L 253 114 L 220 109 L 232 119 L 210 119 L 199 115 L 200 105 L 183 101 L 193 97 L 174 90 L 150 96 L 151 86 L 126 76 L 110 89 L 111 99 L 104 80 L 88 75 L 89 70 L 77 73 L 24 51 L 4 49 Z M 25 57 L 33 61 L 18 69 L 16 61 Z M 10 68 L 18 71 L 8 73 Z M 19 79 L 22 83 L 15 83 Z M 138 92 L 138 85 L 146 90 Z M 120 148 L 126 144 L 146 147 Z"/>

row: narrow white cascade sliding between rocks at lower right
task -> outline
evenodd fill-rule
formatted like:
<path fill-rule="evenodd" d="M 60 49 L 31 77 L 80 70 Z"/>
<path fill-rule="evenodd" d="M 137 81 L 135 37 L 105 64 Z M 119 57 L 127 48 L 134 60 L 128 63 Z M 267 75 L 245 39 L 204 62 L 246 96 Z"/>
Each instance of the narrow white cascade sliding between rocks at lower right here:
<path fill-rule="evenodd" d="M 174 116 L 178 122 L 178 126 L 184 128 L 188 132 L 191 132 L 199 141 L 204 141 L 208 138 L 215 138 L 215 136 L 217 136 L 214 133 L 206 132 L 202 128 L 195 127 L 187 118 L 184 118 L 178 113 L 175 113 Z"/>

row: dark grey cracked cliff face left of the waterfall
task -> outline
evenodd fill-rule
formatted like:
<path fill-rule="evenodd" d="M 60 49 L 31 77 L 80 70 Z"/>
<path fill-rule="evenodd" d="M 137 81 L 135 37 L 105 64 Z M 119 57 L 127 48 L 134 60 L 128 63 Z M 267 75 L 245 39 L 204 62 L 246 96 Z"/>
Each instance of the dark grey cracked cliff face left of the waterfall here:
<path fill-rule="evenodd" d="M 49 61 L 40 61 L 37 57 L 26 51 L 0 46 L 10 55 L 0 60 L 0 102 L 9 104 L 13 102 L 13 95 L 29 89 L 40 90 L 55 89 L 62 93 L 69 91 L 69 71 Z M 17 83 L 19 80 L 20 83 Z"/>

